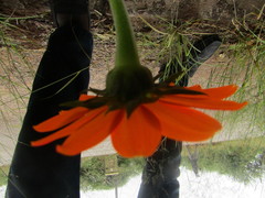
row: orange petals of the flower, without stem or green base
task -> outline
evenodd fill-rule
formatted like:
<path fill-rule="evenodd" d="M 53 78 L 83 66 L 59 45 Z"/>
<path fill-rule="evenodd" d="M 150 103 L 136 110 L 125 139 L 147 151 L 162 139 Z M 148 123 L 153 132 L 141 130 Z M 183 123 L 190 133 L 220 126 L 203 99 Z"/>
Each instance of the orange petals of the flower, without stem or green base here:
<path fill-rule="evenodd" d="M 171 91 L 174 94 L 165 95 Z M 120 155 L 150 156 L 161 136 L 178 141 L 203 141 L 213 136 L 222 128 L 220 122 L 193 108 L 239 110 L 246 102 L 223 100 L 235 91 L 236 86 L 211 89 L 200 86 L 157 87 L 146 94 L 146 100 L 142 99 L 129 112 L 125 106 L 112 108 L 110 98 L 82 95 L 77 107 L 61 111 L 34 127 L 39 132 L 59 131 L 32 142 L 32 145 L 41 146 L 67 138 L 56 146 L 56 151 L 64 155 L 76 155 L 110 135 Z M 98 105 L 95 101 L 102 103 L 96 108 L 87 108 L 88 103 Z"/>

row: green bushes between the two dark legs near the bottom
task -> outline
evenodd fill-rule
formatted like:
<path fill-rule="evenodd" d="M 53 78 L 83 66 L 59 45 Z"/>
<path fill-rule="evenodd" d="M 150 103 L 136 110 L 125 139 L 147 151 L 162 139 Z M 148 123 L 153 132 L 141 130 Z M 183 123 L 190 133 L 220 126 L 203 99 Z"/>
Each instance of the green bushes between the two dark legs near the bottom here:
<path fill-rule="evenodd" d="M 81 188 L 83 190 L 113 189 L 116 186 L 125 185 L 129 178 L 141 172 L 145 163 L 142 158 L 117 157 L 117 175 L 105 175 L 105 156 L 83 158 L 81 166 Z"/>

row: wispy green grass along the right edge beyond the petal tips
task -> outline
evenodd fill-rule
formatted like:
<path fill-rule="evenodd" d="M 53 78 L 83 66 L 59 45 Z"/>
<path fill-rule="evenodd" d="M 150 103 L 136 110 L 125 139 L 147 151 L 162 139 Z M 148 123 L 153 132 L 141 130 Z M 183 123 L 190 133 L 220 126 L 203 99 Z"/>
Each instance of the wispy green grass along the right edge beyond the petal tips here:
<path fill-rule="evenodd" d="M 237 41 L 222 50 L 227 64 L 213 65 L 208 86 L 237 85 L 240 89 L 233 99 L 248 101 L 248 106 L 234 113 L 221 112 L 218 118 L 230 125 L 231 131 L 240 129 L 243 136 L 261 135 L 265 130 L 264 22 L 236 19 L 234 23 Z M 252 29 L 251 24 L 254 24 Z"/>

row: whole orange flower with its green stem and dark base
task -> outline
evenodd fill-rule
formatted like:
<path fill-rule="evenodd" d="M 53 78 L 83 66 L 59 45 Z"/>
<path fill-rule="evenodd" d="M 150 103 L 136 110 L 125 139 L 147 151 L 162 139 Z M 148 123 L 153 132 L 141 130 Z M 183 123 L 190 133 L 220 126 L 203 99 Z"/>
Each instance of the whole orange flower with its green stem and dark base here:
<path fill-rule="evenodd" d="M 223 100 L 236 91 L 235 86 L 202 89 L 168 85 L 180 74 L 155 84 L 151 72 L 140 64 L 124 1 L 109 0 L 109 4 L 117 50 L 106 89 L 93 89 L 96 97 L 83 95 L 80 101 L 65 103 L 73 109 L 35 125 L 39 132 L 57 131 L 32 142 L 33 146 L 66 138 L 56 151 L 76 155 L 110 135 L 120 155 L 149 156 L 157 150 L 161 136 L 202 141 L 221 129 L 219 121 L 192 108 L 237 110 L 246 105 Z"/>

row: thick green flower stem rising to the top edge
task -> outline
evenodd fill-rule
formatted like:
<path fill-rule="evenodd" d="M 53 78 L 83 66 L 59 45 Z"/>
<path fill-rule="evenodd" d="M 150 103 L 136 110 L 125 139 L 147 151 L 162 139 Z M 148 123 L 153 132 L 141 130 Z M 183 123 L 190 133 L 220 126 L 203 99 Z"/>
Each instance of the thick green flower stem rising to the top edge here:
<path fill-rule="evenodd" d="M 109 0 L 116 29 L 115 68 L 140 66 L 134 31 L 130 25 L 124 0 Z"/>

